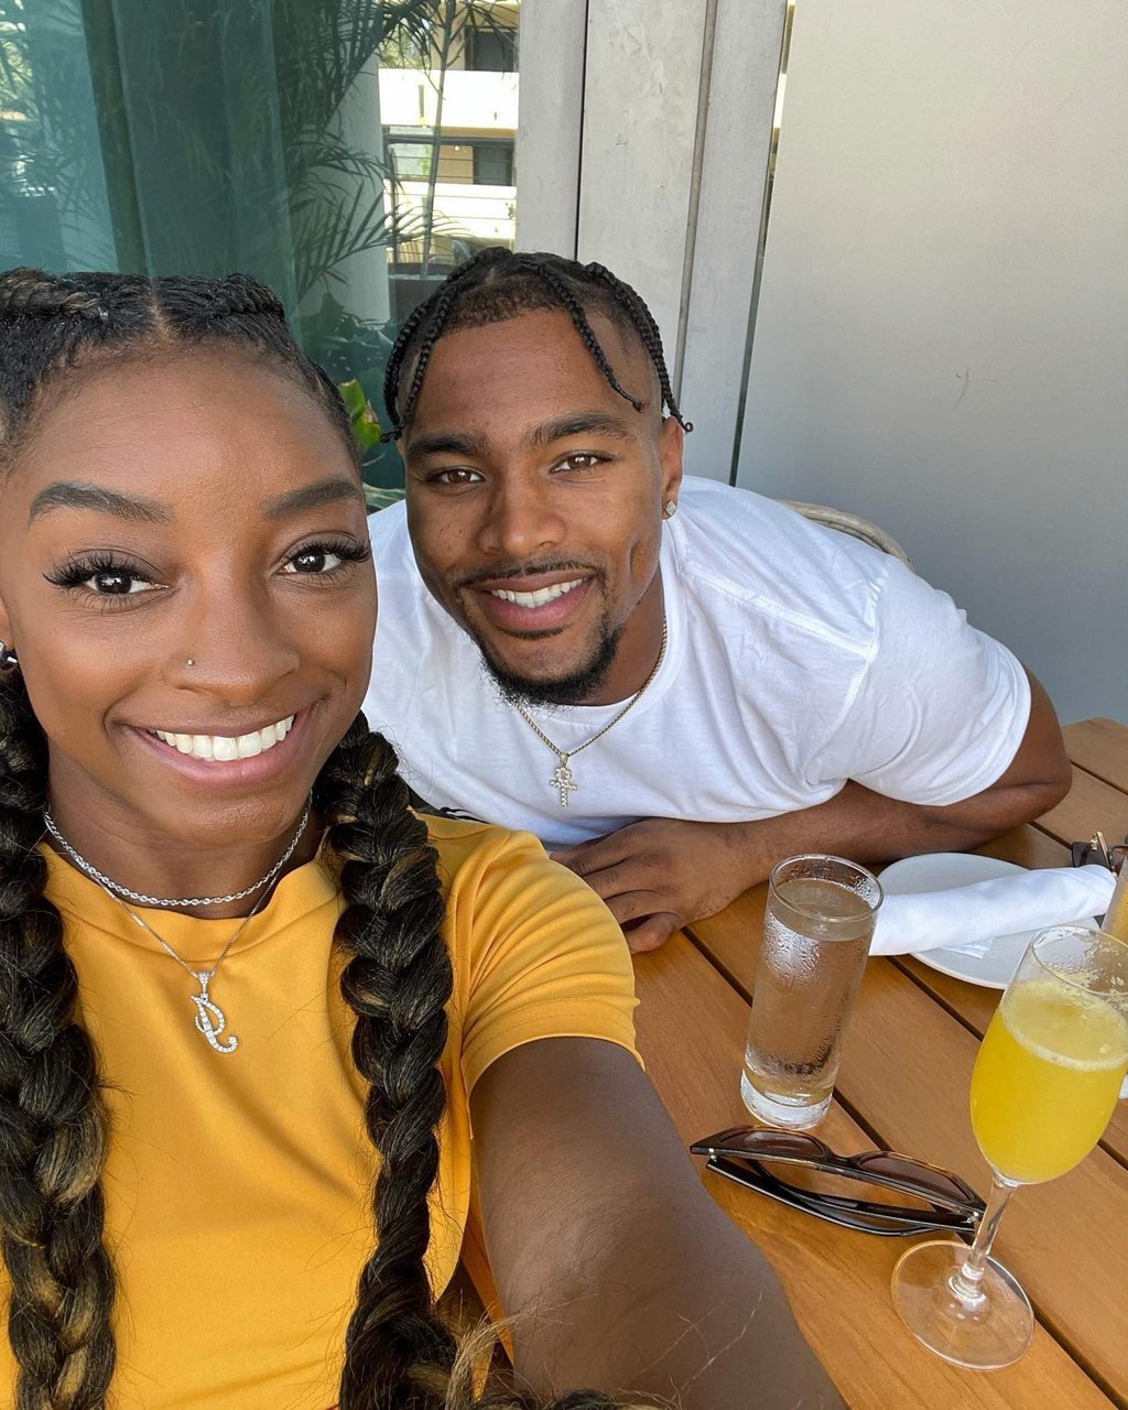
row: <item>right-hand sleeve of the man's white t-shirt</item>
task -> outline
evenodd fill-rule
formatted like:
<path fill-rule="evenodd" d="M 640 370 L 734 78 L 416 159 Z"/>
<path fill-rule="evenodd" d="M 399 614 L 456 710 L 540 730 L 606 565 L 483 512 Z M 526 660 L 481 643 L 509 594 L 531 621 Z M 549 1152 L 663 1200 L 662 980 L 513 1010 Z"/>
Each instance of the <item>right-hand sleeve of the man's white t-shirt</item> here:
<path fill-rule="evenodd" d="M 895 560 L 876 594 L 870 658 L 823 750 L 822 781 L 853 778 L 932 807 L 970 798 L 1018 752 L 1026 673 L 946 592 Z"/>

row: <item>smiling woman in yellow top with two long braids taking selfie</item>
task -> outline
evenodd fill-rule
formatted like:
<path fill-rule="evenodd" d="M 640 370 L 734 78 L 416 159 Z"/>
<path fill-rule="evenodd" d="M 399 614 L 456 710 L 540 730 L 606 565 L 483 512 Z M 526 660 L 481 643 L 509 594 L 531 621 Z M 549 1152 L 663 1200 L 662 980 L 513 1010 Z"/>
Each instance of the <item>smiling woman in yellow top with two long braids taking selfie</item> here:
<path fill-rule="evenodd" d="M 375 611 L 269 290 L 0 275 L 0 1404 L 836 1406 L 602 904 L 409 809 Z M 510 1387 L 436 1316 L 478 1237 Z"/>

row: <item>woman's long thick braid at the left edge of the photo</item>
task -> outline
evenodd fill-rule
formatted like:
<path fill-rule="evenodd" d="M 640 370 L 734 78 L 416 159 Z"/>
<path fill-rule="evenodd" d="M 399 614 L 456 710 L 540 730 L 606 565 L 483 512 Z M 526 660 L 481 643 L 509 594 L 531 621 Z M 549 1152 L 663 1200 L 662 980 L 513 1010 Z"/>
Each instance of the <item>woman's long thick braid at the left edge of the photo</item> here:
<path fill-rule="evenodd" d="M 16 1410 L 94 1410 L 114 1366 L 106 1121 L 62 918 L 44 897 L 45 792 L 44 740 L 11 673 L 0 677 L 0 1246 Z"/>

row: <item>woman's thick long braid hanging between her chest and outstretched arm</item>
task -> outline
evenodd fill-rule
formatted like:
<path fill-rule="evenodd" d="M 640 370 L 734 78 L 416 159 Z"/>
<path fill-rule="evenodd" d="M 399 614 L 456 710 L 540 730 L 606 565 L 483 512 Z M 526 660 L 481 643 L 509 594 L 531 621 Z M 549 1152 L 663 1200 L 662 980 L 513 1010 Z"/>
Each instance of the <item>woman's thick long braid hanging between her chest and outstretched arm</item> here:
<path fill-rule="evenodd" d="M 344 863 L 348 905 L 336 938 L 352 959 L 341 993 L 357 1015 L 352 1060 L 369 1083 L 365 1124 L 381 1156 L 376 1248 L 348 1325 L 341 1410 L 433 1404 L 454 1363 L 423 1266 L 446 1110 L 439 1060 L 451 963 L 436 853 L 395 768 L 391 744 L 369 735 L 361 716 L 314 791 L 330 821 L 329 845 Z"/>

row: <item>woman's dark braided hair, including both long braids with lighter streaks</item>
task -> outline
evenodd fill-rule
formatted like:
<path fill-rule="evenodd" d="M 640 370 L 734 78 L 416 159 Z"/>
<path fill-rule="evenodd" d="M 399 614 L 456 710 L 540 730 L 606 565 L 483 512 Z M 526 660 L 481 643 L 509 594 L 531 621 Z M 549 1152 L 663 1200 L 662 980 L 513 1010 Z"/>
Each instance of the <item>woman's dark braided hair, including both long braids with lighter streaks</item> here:
<path fill-rule="evenodd" d="M 70 369 L 224 345 L 305 388 L 355 455 L 336 388 L 293 343 L 278 299 L 252 279 L 0 274 L 0 472 Z M 0 1246 L 11 1280 L 14 1410 L 103 1410 L 114 1373 L 114 1272 L 100 1176 L 113 1134 L 96 1053 L 76 1021 L 63 922 L 44 894 L 45 807 L 47 740 L 20 671 L 0 673 Z M 348 1324 L 340 1407 L 526 1410 L 539 1403 L 475 1394 L 424 1272 L 451 963 L 427 828 L 407 807 L 392 747 L 364 716 L 326 761 L 314 807 L 341 864 L 345 908 L 334 940 L 350 956 L 341 990 L 355 1014 L 352 1059 L 368 1081 L 365 1125 L 379 1156 L 375 1251 Z M 556 1410 L 612 1406 L 582 1392 L 553 1402 Z"/>

